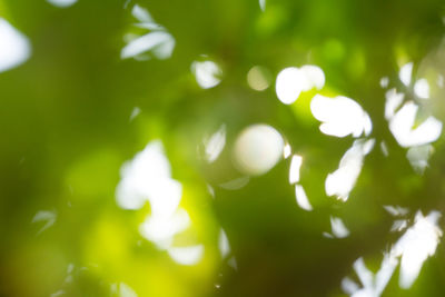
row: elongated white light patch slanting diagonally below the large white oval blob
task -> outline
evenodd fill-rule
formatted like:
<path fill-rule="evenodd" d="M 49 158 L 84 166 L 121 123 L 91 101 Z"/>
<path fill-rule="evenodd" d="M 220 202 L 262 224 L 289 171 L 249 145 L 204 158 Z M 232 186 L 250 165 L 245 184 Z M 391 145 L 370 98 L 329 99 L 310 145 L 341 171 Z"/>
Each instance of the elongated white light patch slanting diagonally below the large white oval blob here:
<path fill-rule="evenodd" d="M 328 196 L 337 196 L 346 201 L 353 190 L 362 171 L 364 157 L 373 149 L 375 140 L 356 140 L 343 156 L 339 167 L 329 174 L 325 181 L 325 189 Z"/>

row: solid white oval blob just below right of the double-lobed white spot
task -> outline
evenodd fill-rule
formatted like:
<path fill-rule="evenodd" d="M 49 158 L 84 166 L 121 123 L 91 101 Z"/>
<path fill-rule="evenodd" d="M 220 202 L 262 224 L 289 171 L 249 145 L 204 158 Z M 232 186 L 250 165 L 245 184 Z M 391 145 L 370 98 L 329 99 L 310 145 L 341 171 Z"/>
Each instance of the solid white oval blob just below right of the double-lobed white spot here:
<path fill-rule="evenodd" d="M 314 96 L 310 101 L 313 116 L 322 121 L 319 129 L 325 135 L 346 137 L 368 136 L 373 123 L 368 113 L 353 99 L 338 96 L 335 98 Z"/>

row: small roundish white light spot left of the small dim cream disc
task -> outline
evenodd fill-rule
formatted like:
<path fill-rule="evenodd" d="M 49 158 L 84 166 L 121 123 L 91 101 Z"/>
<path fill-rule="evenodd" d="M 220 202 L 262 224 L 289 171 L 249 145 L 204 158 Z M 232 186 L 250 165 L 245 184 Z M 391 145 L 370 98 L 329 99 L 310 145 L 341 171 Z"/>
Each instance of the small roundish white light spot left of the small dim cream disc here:
<path fill-rule="evenodd" d="M 191 72 L 202 89 L 214 88 L 221 82 L 222 71 L 214 61 L 195 61 L 191 63 Z"/>

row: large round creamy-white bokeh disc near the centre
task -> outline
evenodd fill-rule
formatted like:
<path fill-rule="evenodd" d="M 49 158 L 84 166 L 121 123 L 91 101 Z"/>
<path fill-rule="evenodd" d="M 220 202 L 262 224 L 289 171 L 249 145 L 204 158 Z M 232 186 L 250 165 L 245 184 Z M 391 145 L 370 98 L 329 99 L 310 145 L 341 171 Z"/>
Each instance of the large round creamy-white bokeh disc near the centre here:
<path fill-rule="evenodd" d="M 284 139 L 268 125 L 253 125 L 244 129 L 234 146 L 237 168 L 251 176 L 264 175 L 281 158 Z"/>

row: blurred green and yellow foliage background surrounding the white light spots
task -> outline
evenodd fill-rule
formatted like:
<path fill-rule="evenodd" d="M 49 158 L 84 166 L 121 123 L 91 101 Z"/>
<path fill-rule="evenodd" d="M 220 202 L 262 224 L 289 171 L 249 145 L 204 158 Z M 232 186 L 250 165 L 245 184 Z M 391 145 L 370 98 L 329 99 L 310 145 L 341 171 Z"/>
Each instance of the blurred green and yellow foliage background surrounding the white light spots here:
<path fill-rule="evenodd" d="M 66 9 L 46 1 L 0 0 L 0 16 L 31 41 L 32 56 L 0 73 L 0 295 L 111 296 L 123 281 L 139 296 L 345 296 L 340 281 L 364 257 L 374 271 L 382 253 L 399 237 L 383 205 L 426 215 L 445 210 L 444 138 L 425 175 L 416 174 L 384 118 L 386 90 L 404 91 L 397 79 L 408 61 L 414 73 L 444 73 L 442 0 L 141 0 L 176 39 L 167 60 L 121 60 L 123 36 L 134 30 L 131 8 L 120 0 L 79 0 Z M 2 44 L 0 44 L 2 46 Z M 221 83 L 202 90 L 190 65 L 207 55 L 222 70 Z M 276 97 L 275 78 L 286 68 L 317 65 L 326 75 L 322 93 L 354 98 L 373 119 L 377 140 L 346 204 L 326 197 L 324 180 L 353 138 L 319 132 L 309 111 L 315 91 L 291 106 Z M 256 66 L 274 78 L 264 92 L 246 75 Z M 423 68 L 422 68 L 422 67 Z M 444 91 L 424 109 L 445 119 Z M 135 107 L 141 113 L 132 121 Z M 295 202 L 289 161 L 281 160 L 243 189 L 218 184 L 239 177 L 229 147 L 248 125 L 278 129 L 304 156 L 301 184 L 314 206 Z M 221 123 L 227 145 L 206 165 L 197 154 L 206 133 Z M 116 205 L 120 166 L 154 139 L 161 139 L 174 178 L 184 186 L 181 205 L 194 236 L 206 247 L 200 264 L 175 264 L 138 232 L 149 206 Z M 385 141 L 389 157 L 380 154 Z M 215 186 L 215 199 L 207 191 Z M 31 224 L 39 210 L 56 224 Z M 329 216 L 352 231 L 345 239 L 322 236 Z M 443 226 L 443 224 L 441 224 Z M 237 259 L 220 259 L 222 227 Z M 67 266 L 73 279 L 65 283 Z M 83 267 L 83 269 L 81 269 Z M 444 296 L 445 254 L 439 244 L 409 290 L 398 287 L 398 268 L 383 296 Z"/>

